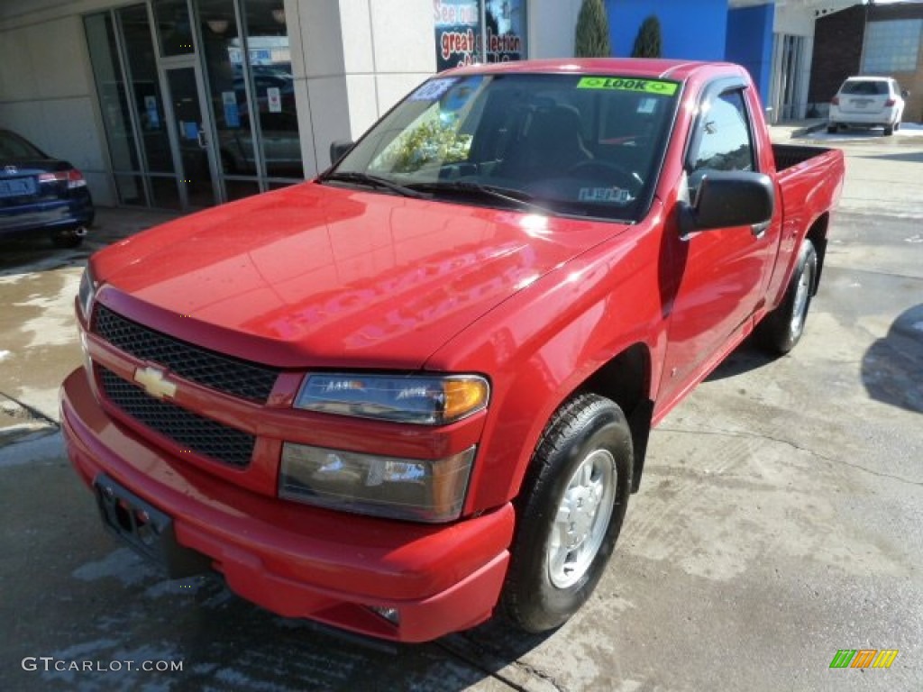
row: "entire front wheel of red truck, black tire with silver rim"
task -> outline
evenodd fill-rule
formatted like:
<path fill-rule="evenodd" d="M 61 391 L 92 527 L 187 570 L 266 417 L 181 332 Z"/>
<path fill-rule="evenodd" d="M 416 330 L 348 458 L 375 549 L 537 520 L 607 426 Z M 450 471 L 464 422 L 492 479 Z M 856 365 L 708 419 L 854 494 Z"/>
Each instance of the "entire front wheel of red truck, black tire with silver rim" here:
<path fill-rule="evenodd" d="M 515 626 L 538 633 L 563 625 L 593 593 L 622 528 L 631 468 L 631 431 L 613 401 L 582 394 L 552 416 L 517 500 L 501 596 Z M 579 543 L 558 543 L 562 536 Z"/>

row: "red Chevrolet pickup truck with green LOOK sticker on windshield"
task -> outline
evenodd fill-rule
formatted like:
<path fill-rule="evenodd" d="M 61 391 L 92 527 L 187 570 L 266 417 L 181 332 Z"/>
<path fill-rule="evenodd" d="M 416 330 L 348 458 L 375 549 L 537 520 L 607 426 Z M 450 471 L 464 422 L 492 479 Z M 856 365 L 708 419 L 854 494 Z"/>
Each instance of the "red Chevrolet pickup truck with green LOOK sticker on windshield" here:
<path fill-rule="evenodd" d="M 186 576 L 379 638 L 562 624 L 648 434 L 751 332 L 801 336 L 838 151 L 738 66 L 464 67 L 302 185 L 90 258 L 67 453 Z"/>

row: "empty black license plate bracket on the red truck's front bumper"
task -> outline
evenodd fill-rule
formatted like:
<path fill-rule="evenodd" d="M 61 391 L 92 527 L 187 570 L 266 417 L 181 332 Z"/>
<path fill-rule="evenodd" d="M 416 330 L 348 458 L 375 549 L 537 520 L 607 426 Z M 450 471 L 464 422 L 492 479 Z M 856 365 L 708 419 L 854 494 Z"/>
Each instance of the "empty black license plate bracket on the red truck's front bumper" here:
<path fill-rule="evenodd" d="M 140 555 L 166 569 L 170 579 L 209 570 L 211 559 L 176 542 L 173 519 L 104 473 L 93 482 L 102 523 Z"/>

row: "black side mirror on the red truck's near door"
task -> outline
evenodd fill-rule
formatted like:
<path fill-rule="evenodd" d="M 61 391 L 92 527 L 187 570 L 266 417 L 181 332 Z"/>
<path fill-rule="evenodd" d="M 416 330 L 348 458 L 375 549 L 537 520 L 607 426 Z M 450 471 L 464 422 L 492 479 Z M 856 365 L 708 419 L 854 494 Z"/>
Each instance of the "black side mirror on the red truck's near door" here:
<path fill-rule="evenodd" d="M 775 187 L 764 173 L 709 171 L 701 176 L 695 201 L 680 210 L 683 236 L 697 231 L 756 226 L 773 218 Z"/>

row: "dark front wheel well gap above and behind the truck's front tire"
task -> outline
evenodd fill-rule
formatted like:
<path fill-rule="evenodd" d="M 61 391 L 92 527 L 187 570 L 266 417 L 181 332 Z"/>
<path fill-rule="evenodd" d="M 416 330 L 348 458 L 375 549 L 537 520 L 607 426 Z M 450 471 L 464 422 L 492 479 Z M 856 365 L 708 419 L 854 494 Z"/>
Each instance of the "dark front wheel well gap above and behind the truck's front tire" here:
<path fill-rule="evenodd" d="M 636 343 L 619 353 L 611 361 L 587 378 L 580 391 L 593 392 L 611 399 L 625 413 L 631 429 L 631 443 L 634 454 L 631 470 L 631 492 L 637 493 L 641 484 L 641 471 L 647 441 L 651 433 L 653 401 L 648 392 L 651 388 L 651 354 L 647 346 Z"/>

